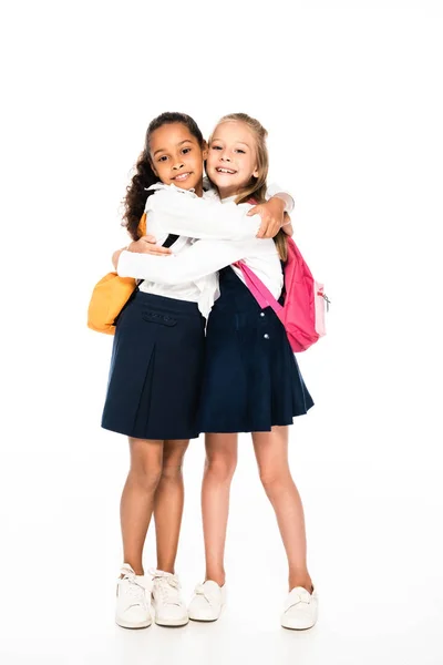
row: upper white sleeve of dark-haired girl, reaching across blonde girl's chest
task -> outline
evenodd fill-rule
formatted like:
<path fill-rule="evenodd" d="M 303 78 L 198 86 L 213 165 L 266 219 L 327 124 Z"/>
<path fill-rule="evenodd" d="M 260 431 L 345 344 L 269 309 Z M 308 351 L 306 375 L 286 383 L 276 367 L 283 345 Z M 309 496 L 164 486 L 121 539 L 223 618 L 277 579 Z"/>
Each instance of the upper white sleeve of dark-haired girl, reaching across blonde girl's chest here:
<path fill-rule="evenodd" d="M 159 190 L 150 196 L 146 212 L 147 216 L 150 212 L 155 214 L 155 225 L 165 233 L 202 239 L 246 241 L 255 238 L 261 224 L 259 215 L 247 216 L 251 207 Z"/>

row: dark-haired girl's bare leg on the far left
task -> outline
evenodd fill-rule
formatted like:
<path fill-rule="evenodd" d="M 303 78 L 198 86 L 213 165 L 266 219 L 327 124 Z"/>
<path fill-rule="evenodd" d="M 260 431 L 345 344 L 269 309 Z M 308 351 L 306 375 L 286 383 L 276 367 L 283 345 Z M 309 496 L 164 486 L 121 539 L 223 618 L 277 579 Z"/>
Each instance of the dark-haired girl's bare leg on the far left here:
<path fill-rule="evenodd" d="M 120 504 L 123 556 L 143 575 L 143 548 L 162 475 L 163 441 L 130 438 L 130 450 L 131 468 Z"/>

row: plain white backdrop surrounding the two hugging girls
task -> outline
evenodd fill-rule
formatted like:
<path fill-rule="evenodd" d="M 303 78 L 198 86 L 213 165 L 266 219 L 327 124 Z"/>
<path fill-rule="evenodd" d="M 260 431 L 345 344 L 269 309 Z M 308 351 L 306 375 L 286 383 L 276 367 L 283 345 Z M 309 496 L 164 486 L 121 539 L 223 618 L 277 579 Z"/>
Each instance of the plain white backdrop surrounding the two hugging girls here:
<path fill-rule="evenodd" d="M 4 665 L 443 662 L 442 10 L 437 2 L 17 2 L 2 9 L 0 661 Z M 208 626 L 113 624 L 127 443 L 100 429 L 112 340 L 91 289 L 123 245 L 147 123 L 245 111 L 332 300 L 299 357 L 291 432 L 321 616 L 279 626 L 286 560 L 240 441 L 229 602 Z M 177 571 L 204 573 L 203 439 Z M 440 519 L 439 519 L 440 518 Z M 155 565 L 153 533 L 146 567 Z M 249 598 L 249 601 L 248 601 Z"/>

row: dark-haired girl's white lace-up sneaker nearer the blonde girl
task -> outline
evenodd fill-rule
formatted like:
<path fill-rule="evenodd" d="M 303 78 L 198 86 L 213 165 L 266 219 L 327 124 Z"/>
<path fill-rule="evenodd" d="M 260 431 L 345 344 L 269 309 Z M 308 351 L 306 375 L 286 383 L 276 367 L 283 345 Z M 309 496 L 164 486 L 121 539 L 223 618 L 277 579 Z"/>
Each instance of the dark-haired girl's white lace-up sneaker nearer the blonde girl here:
<path fill-rule="evenodd" d="M 152 604 L 155 610 L 155 623 L 159 626 L 185 626 L 189 617 L 181 596 L 178 576 L 156 570 L 150 570 L 150 574 L 153 576 Z"/>

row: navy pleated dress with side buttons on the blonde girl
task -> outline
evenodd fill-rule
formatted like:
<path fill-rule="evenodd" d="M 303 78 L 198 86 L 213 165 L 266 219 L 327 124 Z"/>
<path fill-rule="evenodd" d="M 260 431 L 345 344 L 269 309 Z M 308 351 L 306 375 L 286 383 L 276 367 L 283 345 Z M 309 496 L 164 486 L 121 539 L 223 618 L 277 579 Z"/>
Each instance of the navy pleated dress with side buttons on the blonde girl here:
<path fill-rule="evenodd" d="M 198 428 L 261 432 L 291 424 L 313 401 L 285 327 L 270 307 L 259 307 L 230 267 L 219 277 L 220 297 L 206 331 Z"/>

